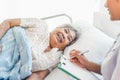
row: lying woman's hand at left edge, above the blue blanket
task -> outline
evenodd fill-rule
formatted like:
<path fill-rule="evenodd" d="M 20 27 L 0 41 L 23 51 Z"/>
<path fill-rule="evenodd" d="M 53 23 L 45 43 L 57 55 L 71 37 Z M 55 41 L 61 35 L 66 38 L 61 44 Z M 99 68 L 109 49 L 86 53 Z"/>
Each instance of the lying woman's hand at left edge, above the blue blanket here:
<path fill-rule="evenodd" d="M 10 24 L 7 20 L 3 21 L 0 24 L 0 39 L 5 35 L 5 33 L 9 30 Z"/>

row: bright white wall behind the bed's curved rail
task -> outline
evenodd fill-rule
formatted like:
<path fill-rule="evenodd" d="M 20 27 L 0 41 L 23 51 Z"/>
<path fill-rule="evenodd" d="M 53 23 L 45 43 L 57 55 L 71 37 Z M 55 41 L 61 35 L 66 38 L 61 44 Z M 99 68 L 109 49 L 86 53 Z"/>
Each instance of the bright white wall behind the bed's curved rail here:
<path fill-rule="evenodd" d="M 99 0 L 0 0 L 0 22 L 7 18 L 47 17 L 66 13 L 73 21 L 92 22 Z"/>

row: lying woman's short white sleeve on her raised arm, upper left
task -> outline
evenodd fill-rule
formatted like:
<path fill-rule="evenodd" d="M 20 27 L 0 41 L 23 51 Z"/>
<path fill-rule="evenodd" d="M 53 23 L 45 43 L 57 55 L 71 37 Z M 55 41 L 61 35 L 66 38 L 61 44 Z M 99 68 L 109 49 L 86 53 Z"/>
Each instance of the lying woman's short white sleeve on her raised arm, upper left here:
<path fill-rule="evenodd" d="M 20 26 L 23 27 L 41 27 L 41 26 L 47 26 L 45 21 L 40 20 L 38 18 L 22 18 Z"/>

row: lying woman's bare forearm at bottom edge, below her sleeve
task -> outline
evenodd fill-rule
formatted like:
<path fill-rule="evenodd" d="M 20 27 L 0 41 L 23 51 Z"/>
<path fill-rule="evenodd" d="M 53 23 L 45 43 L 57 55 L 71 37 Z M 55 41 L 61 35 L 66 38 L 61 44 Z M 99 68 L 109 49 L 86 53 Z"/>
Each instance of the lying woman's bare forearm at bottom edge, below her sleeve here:
<path fill-rule="evenodd" d="M 44 80 L 44 78 L 48 75 L 49 70 L 41 70 L 37 72 L 33 72 L 26 80 Z"/>

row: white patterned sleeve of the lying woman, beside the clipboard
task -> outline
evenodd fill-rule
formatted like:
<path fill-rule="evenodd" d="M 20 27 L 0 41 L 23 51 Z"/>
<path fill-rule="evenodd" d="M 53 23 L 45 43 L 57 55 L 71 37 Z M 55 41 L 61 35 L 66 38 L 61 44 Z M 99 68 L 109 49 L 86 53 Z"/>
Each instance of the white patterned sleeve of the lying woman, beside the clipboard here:
<path fill-rule="evenodd" d="M 61 53 L 61 51 L 52 49 L 50 52 L 42 54 L 43 56 L 39 57 L 38 60 L 32 61 L 32 72 L 45 69 L 50 70 L 53 66 L 57 66 Z"/>

